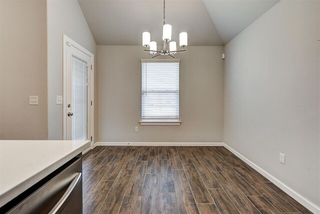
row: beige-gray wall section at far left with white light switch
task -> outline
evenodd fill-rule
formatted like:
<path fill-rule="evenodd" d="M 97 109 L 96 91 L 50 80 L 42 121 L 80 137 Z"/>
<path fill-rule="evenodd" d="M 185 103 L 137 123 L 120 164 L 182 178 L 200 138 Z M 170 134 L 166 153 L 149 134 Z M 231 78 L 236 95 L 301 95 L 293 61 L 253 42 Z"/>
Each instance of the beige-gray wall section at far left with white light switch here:
<path fill-rule="evenodd" d="M 0 31 L 0 139 L 47 139 L 46 1 L 1 0 Z"/>

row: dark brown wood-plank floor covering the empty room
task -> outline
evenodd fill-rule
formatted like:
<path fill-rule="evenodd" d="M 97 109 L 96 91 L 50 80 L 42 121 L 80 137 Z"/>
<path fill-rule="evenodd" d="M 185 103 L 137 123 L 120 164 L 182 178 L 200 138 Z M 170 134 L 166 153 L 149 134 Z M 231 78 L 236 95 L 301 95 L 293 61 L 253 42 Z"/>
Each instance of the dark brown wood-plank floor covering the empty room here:
<path fill-rule="evenodd" d="M 83 213 L 312 213 L 221 146 L 96 146 Z"/>

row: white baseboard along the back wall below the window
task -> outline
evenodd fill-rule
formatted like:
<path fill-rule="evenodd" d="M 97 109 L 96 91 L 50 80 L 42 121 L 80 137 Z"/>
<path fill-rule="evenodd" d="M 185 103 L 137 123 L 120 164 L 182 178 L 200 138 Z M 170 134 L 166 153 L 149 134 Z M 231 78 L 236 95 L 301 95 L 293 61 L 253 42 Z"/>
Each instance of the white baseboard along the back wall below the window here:
<path fill-rule="evenodd" d="M 96 145 L 223 146 L 223 142 L 96 142 Z"/>

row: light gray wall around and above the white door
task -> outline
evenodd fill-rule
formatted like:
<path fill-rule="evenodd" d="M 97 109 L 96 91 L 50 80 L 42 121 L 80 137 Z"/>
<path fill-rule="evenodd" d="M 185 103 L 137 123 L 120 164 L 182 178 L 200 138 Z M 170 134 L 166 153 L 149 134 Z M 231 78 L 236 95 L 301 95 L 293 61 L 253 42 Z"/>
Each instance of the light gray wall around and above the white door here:
<path fill-rule="evenodd" d="M 47 0 L 47 33 L 48 139 L 62 139 L 62 105 L 55 104 L 62 95 L 62 33 L 95 58 L 96 45 L 77 0 Z"/>

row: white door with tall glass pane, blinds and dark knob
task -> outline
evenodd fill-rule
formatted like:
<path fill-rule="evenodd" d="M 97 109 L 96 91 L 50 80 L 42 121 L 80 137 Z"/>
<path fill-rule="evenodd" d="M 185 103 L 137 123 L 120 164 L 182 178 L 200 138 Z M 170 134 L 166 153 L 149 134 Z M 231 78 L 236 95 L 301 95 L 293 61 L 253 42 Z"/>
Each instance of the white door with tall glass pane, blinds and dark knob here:
<path fill-rule="evenodd" d="M 69 39 L 70 40 L 70 39 Z M 65 41 L 64 138 L 92 140 L 92 61 L 93 55 L 78 44 Z M 92 144 L 91 144 L 92 147 Z"/>

